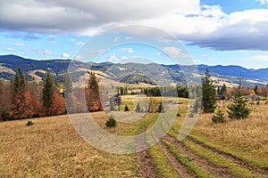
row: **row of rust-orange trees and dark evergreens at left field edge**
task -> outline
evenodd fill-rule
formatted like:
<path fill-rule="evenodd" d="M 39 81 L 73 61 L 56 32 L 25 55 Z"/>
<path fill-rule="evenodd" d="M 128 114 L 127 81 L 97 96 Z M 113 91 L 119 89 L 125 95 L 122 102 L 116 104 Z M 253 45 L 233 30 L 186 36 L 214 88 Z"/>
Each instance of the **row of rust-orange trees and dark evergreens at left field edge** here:
<path fill-rule="evenodd" d="M 80 99 L 83 93 L 86 95 L 88 110 L 102 110 L 94 73 L 89 73 L 88 86 L 82 91 L 81 88 L 72 88 L 71 77 L 67 72 L 64 90 L 65 95 L 60 93 L 50 72 L 47 72 L 43 83 L 28 82 L 19 68 L 11 81 L 0 80 L 0 120 L 62 115 L 67 111 L 66 99 L 71 112 L 85 112 L 87 110 Z"/>

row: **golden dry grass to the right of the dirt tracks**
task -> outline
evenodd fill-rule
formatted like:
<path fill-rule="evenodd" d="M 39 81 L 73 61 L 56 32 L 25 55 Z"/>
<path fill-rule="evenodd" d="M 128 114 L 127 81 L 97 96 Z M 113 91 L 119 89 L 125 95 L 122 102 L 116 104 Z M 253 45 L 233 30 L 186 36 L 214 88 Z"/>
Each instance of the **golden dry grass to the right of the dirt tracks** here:
<path fill-rule="evenodd" d="M 268 167 L 268 105 L 264 102 L 256 105 L 255 101 L 249 107 L 252 109 L 249 117 L 241 120 L 228 118 L 228 102 L 218 103 L 218 109 L 224 111 L 227 123 L 214 124 L 211 120 L 213 114 L 200 114 L 190 134 L 201 142 L 212 144 L 256 166 Z M 184 116 L 175 121 L 173 127 L 177 132 Z"/>

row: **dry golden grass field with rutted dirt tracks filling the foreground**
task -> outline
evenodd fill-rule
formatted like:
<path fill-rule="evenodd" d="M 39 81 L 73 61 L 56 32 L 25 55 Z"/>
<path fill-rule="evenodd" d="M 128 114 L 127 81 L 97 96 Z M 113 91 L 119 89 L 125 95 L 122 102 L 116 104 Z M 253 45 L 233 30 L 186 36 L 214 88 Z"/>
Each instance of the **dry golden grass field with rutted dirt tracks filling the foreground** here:
<path fill-rule="evenodd" d="M 227 104 L 219 107 L 226 111 Z M 268 177 L 264 101 L 251 106 L 244 120 L 214 124 L 212 115 L 201 114 L 187 139 L 176 142 L 186 108 L 187 101 L 162 142 L 130 155 L 93 148 L 76 133 L 67 115 L 34 118 L 30 126 L 28 120 L 0 123 L 0 177 Z M 158 116 L 147 113 L 136 122 L 106 128 L 105 112 L 93 115 L 100 127 L 118 135 L 138 134 Z"/>

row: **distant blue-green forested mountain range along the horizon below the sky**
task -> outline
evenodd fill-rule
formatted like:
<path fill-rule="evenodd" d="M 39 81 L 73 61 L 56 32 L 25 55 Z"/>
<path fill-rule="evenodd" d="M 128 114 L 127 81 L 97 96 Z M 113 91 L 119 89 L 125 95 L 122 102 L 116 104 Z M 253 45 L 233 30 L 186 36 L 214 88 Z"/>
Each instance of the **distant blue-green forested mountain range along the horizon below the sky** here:
<path fill-rule="evenodd" d="M 35 79 L 35 77 L 44 77 L 44 73 L 50 70 L 54 75 L 61 77 L 63 73 L 68 69 L 71 60 L 31 60 L 24 59 L 17 55 L 0 55 L 0 78 L 11 79 L 13 78 L 14 71 L 21 68 L 22 72 L 28 76 L 29 80 Z M 133 72 L 138 75 L 144 76 L 157 76 L 161 74 L 163 69 L 168 71 L 168 74 L 174 81 L 183 80 L 184 74 L 178 65 L 163 65 L 163 64 L 140 64 L 140 63 L 86 63 L 76 62 L 81 69 L 94 69 L 105 72 L 111 79 L 124 78 L 126 73 L 131 73 L 131 78 L 135 78 L 132 75 Z M 187 73 L 192 71 L 193 66 L 183 66 L 183 70 Z M 204 74 L 205 69 L 208 68 L 214 82 L 221 84 L 224 83 L 238 83 L 238 77 L 241 72 L 241 76 L 244 79 L 244 85 L 265 85 L 268 82 L 268 68 L 266 69 L 245 69 L 240 66 L 206 66 L 198 65 L 197 70 L 188 74 L 189 76 L 197 77 L 200 74 Z M 78 75 L 82 75 L 80 72 Z M 128 80 L 128 78 L 124 78 Z M 161 76 L 158 80 L 161 81 Z M 138 77 L 138 80 L 143 79 Z M 151 82 L 151 81 L 148 81 Z"/>

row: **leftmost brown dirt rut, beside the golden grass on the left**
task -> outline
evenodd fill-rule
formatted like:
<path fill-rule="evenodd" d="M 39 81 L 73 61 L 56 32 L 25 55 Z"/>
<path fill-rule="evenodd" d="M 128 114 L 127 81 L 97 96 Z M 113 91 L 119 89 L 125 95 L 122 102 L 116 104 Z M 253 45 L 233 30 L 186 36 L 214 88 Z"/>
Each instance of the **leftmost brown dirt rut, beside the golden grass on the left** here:
<path fill-rule="evenodd" d="M 147 125 L 148 124 L 143 125 L 142 133 L 145 133 Z M 145 136 L 146 135 L 144 134 L 142 139 L 138 140 L 138 147 L 147 146 L 148 143 L 146 142 Z M 148 151 L 147 150 L 140 151 L 137 153 L 137 155 L 139 160 L 139 167 L 140 170 L 142 171 L 143 177 L 147 178 L 156 177 L 156 175 L 159 173 Z"/>

